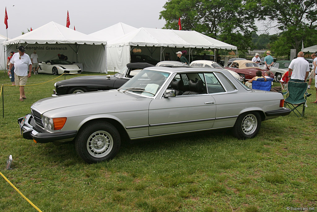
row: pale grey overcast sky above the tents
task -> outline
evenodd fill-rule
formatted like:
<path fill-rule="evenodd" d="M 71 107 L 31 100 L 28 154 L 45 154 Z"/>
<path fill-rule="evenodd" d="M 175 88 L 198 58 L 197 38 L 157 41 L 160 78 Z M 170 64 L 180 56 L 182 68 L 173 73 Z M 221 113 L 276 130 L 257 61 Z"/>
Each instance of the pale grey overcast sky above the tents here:
<path fill-rule="evenodd" d="M 0 34 L 7 37 L 4 24 L 5 7 L 8 14 L 8 38 L 20 36 L 22 31 L 36 29 L 54 21 L 66 26 L 67 10 L 70 29 L 90 34 L 122 22 L 140 28 L 161 29 L 165 20 L 159 20 L 159 12 L 163 10 L 166 0 L 8 0 L 1 3 Z M 14 5 L 14 6 L 13 6 Z M 258 27 L 261 24 L 258 24 Z M 261 27 L 260 27 L 261 28 Z M 264 33 L 264 32 L 260 32 Z M 258 34 L 260 34 L 258 32 Z M 274 34 L 270 31 L 270 34 Z"/>

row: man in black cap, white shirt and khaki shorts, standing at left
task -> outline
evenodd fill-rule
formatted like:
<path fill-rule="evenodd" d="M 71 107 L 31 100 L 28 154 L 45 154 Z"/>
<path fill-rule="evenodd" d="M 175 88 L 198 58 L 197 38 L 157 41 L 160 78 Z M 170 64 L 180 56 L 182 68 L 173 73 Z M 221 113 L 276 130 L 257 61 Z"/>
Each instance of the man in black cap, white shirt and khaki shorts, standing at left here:
<path fill-rule="evenodd" d="M 26 82 L 28 81 L 28 78 L 31 77 L 32 73 L 32 62 L 29 57 L 29 55 L 25 54 L 25 49 L 23 46 L 19 46 L 18 52 L 15 53 L 11 60 L 10 60 L 10 66 L 8 70 L 11 73 L 11 68 L 14 65 L 14 81 L 17 86 L 20 88 L 20 101 L 24 101 L 26 99 L 25 93 L 24 93 L 24 85 L 26 85 Z M 29 73 L 28 73 L 29 69 Z"/>

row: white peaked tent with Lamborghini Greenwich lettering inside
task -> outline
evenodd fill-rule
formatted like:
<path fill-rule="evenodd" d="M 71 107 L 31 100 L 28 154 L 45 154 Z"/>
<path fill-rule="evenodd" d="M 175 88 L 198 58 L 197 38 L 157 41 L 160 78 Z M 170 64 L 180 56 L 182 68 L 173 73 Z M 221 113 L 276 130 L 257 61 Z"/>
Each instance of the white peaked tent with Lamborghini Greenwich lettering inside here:
<path fill-rule="evenodd" d="M 31 55 L 37 51 L 40 61 L 58 59 L 64 54 L 68 60 L 83 66 L 87 72 L 107 72 L 106 41 L 50 22 L 33 31 L 5 41 L 7 51 L 17 51 L 19 45 Z"/>

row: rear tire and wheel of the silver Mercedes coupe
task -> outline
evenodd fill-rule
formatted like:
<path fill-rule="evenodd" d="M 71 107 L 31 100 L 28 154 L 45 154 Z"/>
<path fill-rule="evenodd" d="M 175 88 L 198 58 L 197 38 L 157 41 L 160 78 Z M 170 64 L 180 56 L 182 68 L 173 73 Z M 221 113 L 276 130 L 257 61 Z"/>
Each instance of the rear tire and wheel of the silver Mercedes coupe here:
<path fill-rule="evenodd" d="M 261 116 L 256 111 L 242 113 L 238 116 L 233 133 L 239 139 L 254 138 L 261 127 Z"/>

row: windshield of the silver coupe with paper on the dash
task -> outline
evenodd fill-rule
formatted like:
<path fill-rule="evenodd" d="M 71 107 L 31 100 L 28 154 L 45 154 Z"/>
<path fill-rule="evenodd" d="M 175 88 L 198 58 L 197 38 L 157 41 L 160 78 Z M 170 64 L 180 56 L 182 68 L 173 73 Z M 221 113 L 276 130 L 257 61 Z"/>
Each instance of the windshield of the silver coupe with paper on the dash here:
<path fill-rule="evenodd" d="M 120 87 L 118 91 L 153 97 L 165 83 L 169 75 L 169 72 L 142 70 Z"/>

